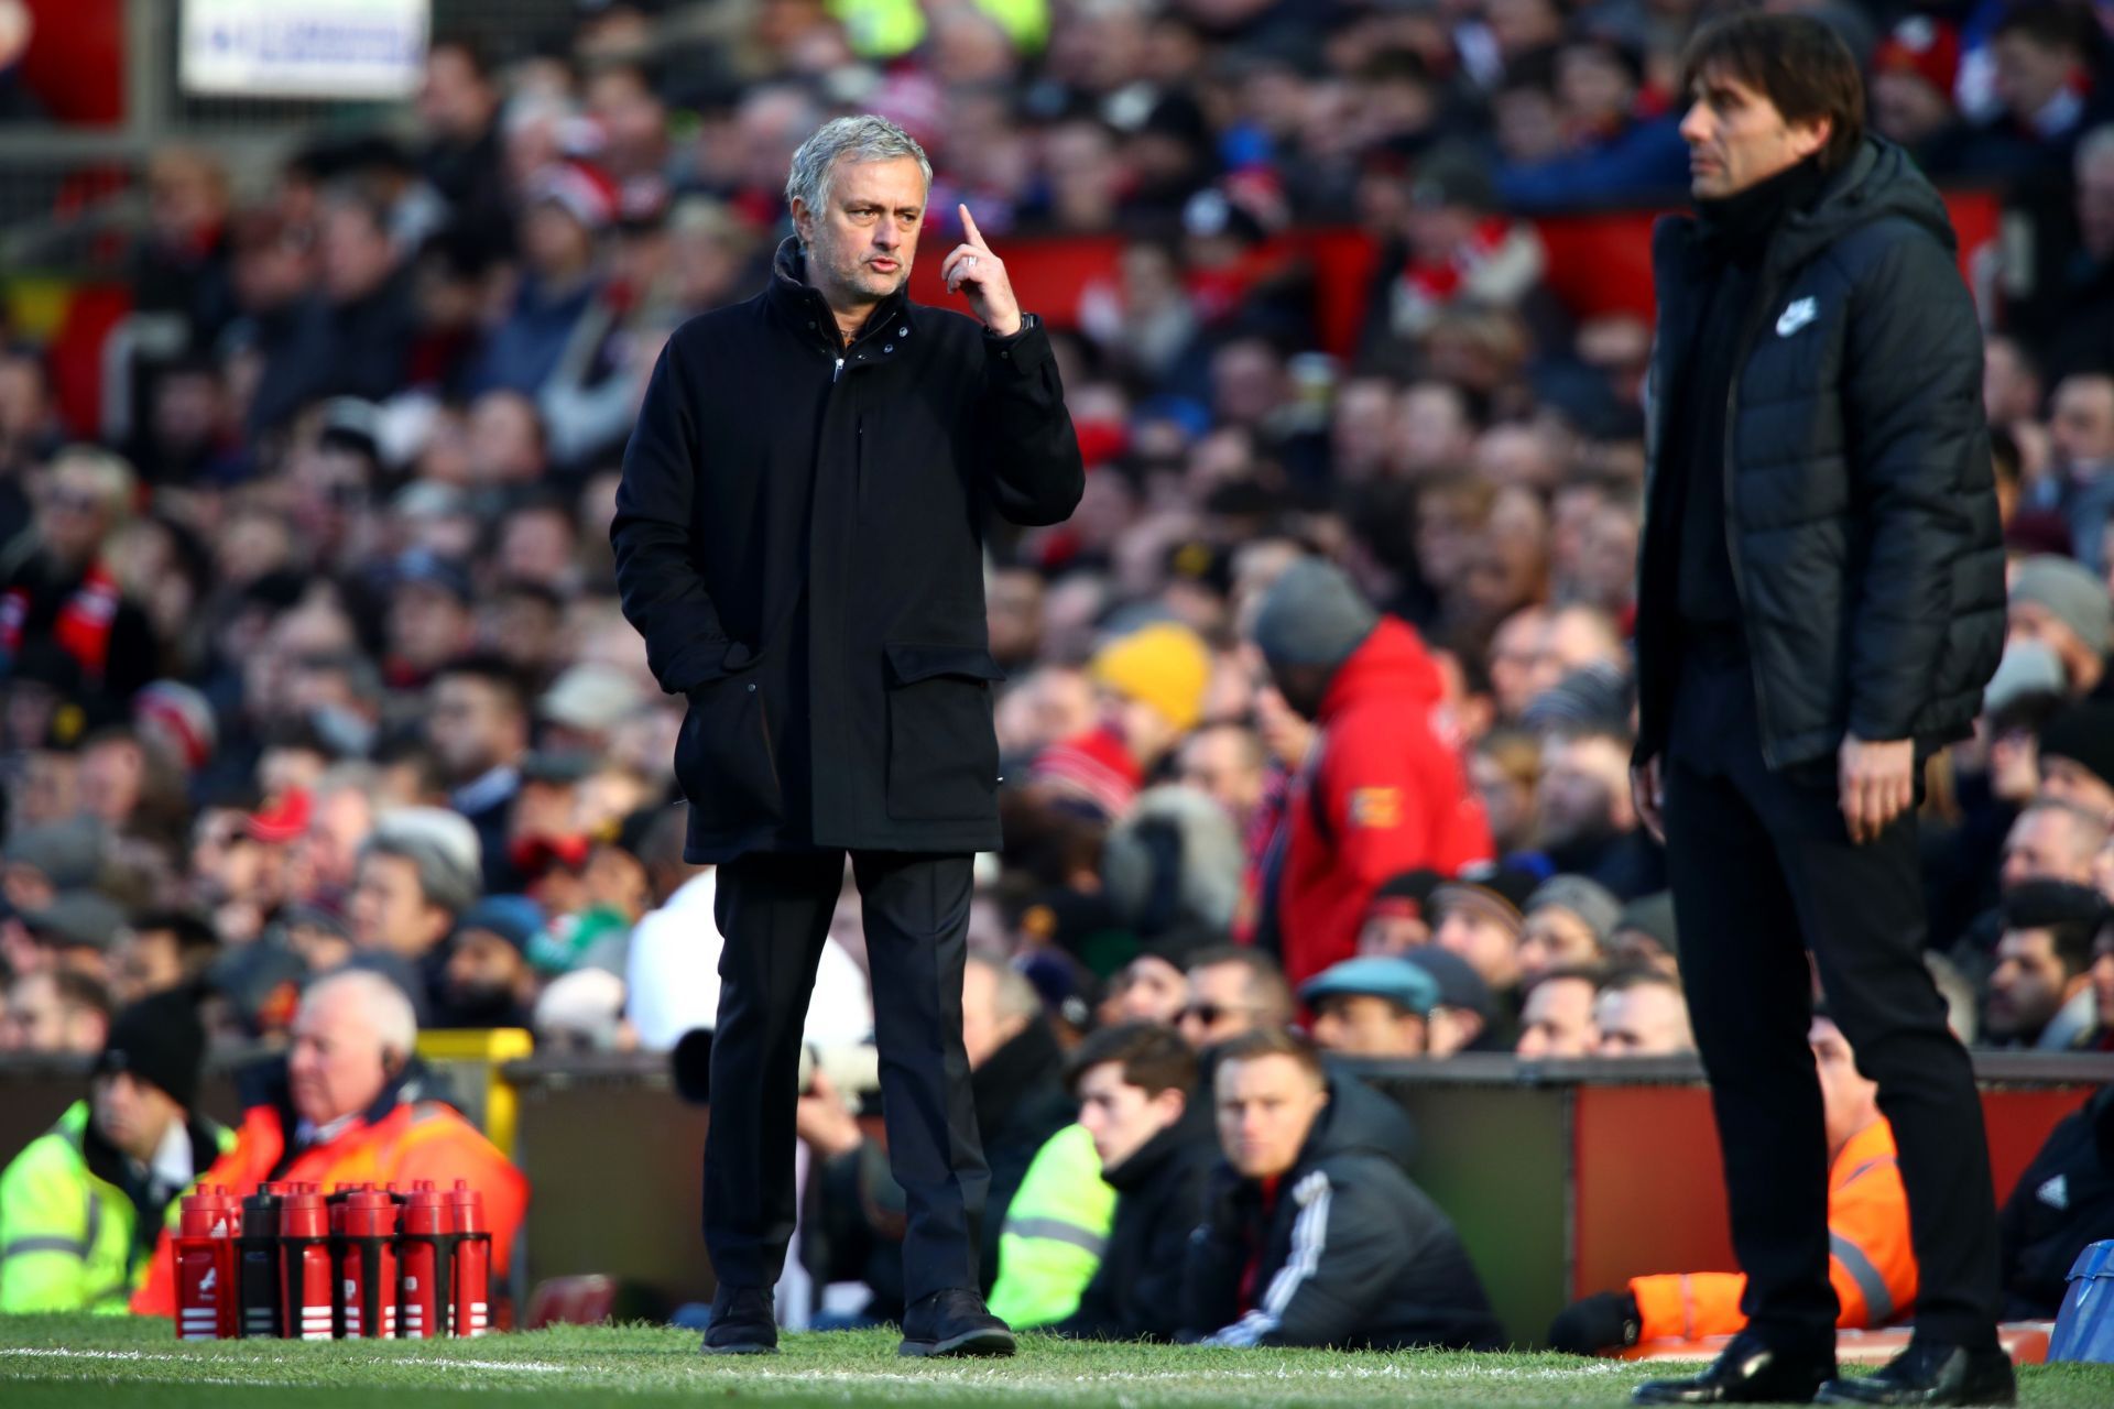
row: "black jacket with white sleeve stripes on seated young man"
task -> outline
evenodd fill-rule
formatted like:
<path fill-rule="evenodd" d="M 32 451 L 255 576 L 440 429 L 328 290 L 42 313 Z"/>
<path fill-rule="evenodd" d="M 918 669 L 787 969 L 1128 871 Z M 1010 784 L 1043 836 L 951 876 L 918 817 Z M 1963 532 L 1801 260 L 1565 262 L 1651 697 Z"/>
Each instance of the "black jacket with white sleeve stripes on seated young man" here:
<path fill-rule="evenodd" d="M 1184 1327 L 1220 1346 L 1495 1348 L 1497 1314 L 1461 1234 L 1404 1170 L 1412 1141 L 1395 1103 L 1334 1075 L 1275 1202 L 1220 1164 L 1190 1238 Z"/>

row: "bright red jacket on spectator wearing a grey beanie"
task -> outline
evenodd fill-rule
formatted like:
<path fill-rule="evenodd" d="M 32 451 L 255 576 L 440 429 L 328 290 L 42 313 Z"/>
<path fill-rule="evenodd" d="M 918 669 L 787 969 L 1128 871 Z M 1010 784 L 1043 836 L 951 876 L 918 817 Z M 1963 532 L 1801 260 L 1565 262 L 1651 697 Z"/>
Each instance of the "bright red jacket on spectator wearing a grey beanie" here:
<path fill-rule="evenodd" d="M 1438 665 L 1393 617 L 1330 682 L 1315 754 L 1285 803 L 1275 885 L 1275 934 L 1294 989 L 1357 953 L 1366 906 L 1389 877 L 1418 866 L 1457 875 L 1490 860 L 1482 799 L 1433 722 L 1442 695 Z"/>

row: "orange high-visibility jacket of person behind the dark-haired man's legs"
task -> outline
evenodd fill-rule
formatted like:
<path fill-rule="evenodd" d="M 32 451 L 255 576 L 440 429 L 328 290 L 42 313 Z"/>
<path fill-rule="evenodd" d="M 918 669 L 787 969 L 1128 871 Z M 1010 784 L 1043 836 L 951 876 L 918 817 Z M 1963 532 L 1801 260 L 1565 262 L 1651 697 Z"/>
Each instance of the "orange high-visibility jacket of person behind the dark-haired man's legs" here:
<path fill-rule="evenodd" d="M 1829 1168 L 1829 1282 L 1843 1331 L 1884 1327 L 1915 1305 L 1909 1191 L 1900 1185 L 1894 1128 L 1879 1120 L 1850 1136 Z M 1733 1335 L 1746 1325 L 1738 1272 L 1674 1272 L 1630 1278 L 1638 1339 Z"/>

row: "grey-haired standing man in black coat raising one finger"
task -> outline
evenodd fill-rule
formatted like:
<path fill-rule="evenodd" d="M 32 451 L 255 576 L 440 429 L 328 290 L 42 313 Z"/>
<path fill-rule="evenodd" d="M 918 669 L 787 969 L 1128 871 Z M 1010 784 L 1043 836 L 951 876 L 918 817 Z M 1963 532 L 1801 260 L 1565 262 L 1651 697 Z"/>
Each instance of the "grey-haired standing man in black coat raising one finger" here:
<path fill-rule="evenodd" d="M 882 118 L 793 156 L 761 294 L 668 340 L 624 456 L 624 615 L 689 697 L 687 860 L 719 862 L 706 1350 L 776 1348 L 808 991 L 850 853 L 905 1189 L 905 1354 L 1006 1354 L 977 1295 L 987 1172 L 962 1052 L 970 853 L 998 849 L 1002 678 L 989 515 L 1055 524 L 1084 486 L 1051 342 L 962 209 L 943 264 L 977 321 L 913 304 L 932 167 Z"/>

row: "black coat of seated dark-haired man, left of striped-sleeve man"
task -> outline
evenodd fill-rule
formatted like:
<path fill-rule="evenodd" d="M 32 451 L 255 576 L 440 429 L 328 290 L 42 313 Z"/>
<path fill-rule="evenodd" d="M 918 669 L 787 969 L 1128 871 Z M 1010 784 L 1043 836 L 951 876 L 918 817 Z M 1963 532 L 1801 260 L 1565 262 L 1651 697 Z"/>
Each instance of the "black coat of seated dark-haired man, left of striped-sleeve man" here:
<path fill-rule="evenodd" d="M 1211 1092 L 1190 1096 L 1182 1120 L 1101 1179 L 1116 1191 L 1108 1251 L 1057 1335 L 1165 1341 L 1182 1329 L 1182 1274 L 1218 1166 Z"/>

